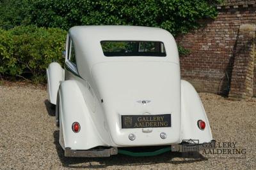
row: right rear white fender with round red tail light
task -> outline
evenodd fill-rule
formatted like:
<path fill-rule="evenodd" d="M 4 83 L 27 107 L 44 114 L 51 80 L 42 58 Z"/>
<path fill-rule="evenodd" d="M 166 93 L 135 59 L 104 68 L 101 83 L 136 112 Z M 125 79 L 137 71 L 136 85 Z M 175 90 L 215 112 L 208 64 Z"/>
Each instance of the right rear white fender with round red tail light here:
<path fill-rule="evenodd" d="M 194 87 L 181 80 L 181 134 L 182 139 L 198 139 L 199 143 L 211 142 L 212 133 L 204 106 Z M 198 128 L 198 120 L 204 120 L 205 129 Z"/>

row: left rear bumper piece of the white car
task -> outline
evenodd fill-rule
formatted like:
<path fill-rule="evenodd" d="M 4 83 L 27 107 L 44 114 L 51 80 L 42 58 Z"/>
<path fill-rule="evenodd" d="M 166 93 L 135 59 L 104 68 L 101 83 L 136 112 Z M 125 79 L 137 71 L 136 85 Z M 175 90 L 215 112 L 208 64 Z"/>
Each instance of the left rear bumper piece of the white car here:
<path fill-rule="evenodd" d="M 92 150 L 71 150 L 71 148 L 65 148 L 65 157 L 110 157 L 117 153 L 117 148 Z"/>

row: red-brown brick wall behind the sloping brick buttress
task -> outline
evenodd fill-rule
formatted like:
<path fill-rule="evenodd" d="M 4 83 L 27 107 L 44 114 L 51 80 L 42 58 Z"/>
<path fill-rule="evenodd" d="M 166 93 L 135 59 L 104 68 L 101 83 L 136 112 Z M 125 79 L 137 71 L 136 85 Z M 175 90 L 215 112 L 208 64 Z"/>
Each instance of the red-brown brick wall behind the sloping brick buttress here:
<path fill-rule="evenodd" d="M 190 50 L 189 55 L 180 56 L 180 69 L 182 78 L 198 92 L 228 94 L 239 27 L 256 24 L 256 1 L 227 0 L 217 8 L 215 20 L 203 20 L 200 29 L 177 37 L 177 42 Z M 254 76 L 256 96 L 255 80 Z"/>

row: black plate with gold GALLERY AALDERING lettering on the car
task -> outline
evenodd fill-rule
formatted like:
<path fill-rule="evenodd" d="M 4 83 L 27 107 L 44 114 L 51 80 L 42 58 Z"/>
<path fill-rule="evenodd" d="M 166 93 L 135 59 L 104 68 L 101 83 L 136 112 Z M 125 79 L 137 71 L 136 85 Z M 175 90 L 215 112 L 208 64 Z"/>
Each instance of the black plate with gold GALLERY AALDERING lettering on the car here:
<path fill-rule="evenodd" d="M 122 129 L 171 127 L 171 114 L 164 115 L 122 115 Z"/>

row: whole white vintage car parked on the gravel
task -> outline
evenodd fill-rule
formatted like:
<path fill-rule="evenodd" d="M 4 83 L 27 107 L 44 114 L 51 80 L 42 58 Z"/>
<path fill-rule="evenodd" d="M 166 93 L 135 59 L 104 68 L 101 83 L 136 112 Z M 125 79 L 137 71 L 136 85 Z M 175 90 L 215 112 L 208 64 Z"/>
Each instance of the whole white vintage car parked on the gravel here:
<path fill-rule="evenodd" d="M 182 152 L 191 141 L 215 142 L 196 90 L 180 80 L 170 32 L 76 26 L 66 49 L 65 68 L 56 62 L 47 68 L 47 95 L 56 104 L 66 157 L 148 156 Z"/>

